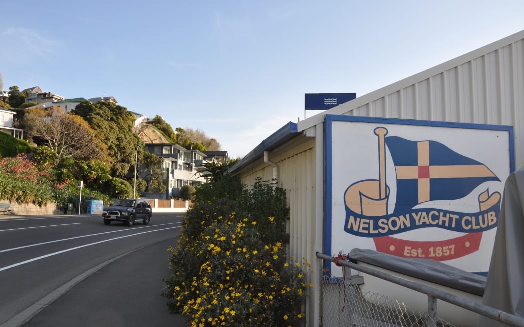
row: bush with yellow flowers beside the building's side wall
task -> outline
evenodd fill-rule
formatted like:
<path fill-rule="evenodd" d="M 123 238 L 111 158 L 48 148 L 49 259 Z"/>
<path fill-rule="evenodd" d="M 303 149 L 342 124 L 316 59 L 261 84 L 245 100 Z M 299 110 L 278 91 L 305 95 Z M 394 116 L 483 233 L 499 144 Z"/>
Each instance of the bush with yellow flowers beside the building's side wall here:
<path fill-rule="evenodd" d="M 303 322 L 310 270 L 286 251 L 285 196 L 257 181 L 236 200 L 197 197 L 177 246 L 168 249 L 172 274 L 163 295 L 171 311 L 195 327 Z"/>

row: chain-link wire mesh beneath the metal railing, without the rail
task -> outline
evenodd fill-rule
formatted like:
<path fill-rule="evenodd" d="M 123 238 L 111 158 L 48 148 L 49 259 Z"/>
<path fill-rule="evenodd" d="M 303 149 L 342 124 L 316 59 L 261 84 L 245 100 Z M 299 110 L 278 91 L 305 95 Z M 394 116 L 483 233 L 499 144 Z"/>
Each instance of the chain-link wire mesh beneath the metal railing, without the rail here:
<path fill-rule="evenodd" d="M 455 327 L 439 317 L 420 312 L 400 300 L 366 290 L 340 277 L 324 275 L 322 326 Z"/>

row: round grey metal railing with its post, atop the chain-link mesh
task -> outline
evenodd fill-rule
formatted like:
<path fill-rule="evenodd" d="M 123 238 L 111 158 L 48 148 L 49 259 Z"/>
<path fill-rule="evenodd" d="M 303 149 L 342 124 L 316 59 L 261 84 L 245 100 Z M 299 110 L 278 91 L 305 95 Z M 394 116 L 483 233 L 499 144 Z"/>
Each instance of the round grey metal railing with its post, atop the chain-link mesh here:
<path fill-rule="evenodd" d="M 320 253 L 320 252 L 317 252 L 316 256 L 323 260 L 335 262 L 334 257 Z M 435 319 L 436 314 L 437 314 L 436 299 L 440 299 L 442 301 L 452 303 L 455 306 L 484 315 L 485 317 L 494 319 L 496 321 L 500 321 L 509 326 L 524 327 L 524 319 L 517 317 L 516 315 L 483 305 L 481 303 L 477 303 L 470 299 L 462 298 L 462 297 L 450 294 L 448 292 L 442 291 L 440 289 L 436 289 L 436 288 L 433 288 L 427 285 L 416 283 L 415 281 L 403 279 L 403 278 L 382 272 L 380 270 L 377 270 L 371 267 L 354 264 L 347 260 L 337 260 L 336 264 L 339 266 L 355 269 L 365 274 L 369 274 L 377 278 L 387 280 L 391 283 L 395 283 L 397 285 L 401 285 L 403 287 L 407 287 L 409 289 L 426 294 L 428 296 L 428 311 L 425 316 L 425 325 L 426 326 L 433 327 L 433 326 L 438 325 L 435 323 L 435 321 L 437 321 L 437 319 Z M 344 297 L 344 300 L 345 300 L 345 297 Z"/>

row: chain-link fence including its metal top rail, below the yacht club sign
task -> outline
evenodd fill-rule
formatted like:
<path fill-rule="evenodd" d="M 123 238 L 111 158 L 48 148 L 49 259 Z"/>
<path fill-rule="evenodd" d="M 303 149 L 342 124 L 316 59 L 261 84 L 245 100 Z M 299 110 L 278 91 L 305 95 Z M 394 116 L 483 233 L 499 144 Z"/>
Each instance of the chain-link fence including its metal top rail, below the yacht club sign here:
<path fill-rule="evenodd" d="M 365 276 L 373 276 L 392 283 L 391 285 L 399 285 L 411 289 L 425 298 L 425 300 L 422 300 L 422 298 L 414 300 L 412 296 L 403 294 L 403 296 L 408 296 L 409 299 L 391 299 L 384 294 L 379 294 L 377 289 L 374 289 L 374 291 L 366 289 L 362 276 L 355 275 L 355 279 L 352 279 L 354 276 L 351 276 L 351 278 L 334 277 L 329 273 L 329 270 L 327 272 L 323 271 L 323 283 L 320 290 L 320 305 L 322 306 L 320 310 L 320 325 L 322 327 L 476 326 L 480 317 L 479 314 L 493 319 L 494 322 L 498 321 L 512 327 L 524 327 L 524 319 L 485 306 L 471 299 L 381 272 L 371 267 L 357 265 L 347 260 L 339 260 L 339 257 L 334 258 L 319 252 L 316 253 L 316 256 L 323 260 L 334 262 L 337 266 L 356 269 L 365 274 Z M 344 276 L 346 276 L 345 270 Z M 358 278 L 361 278 L 361 280 L 358 280 Z M 381 287 L 384 287 L 384 292 L 391 294 L 391 292 L 388 293 L 386 291 L 387 287 L 385 284 Z M 444 320 L 442 317 L 438 317 L 437 300 L 445 302 L 445 305 L 452 305 L 459 311 L 451 315 L 449 310 L 441 311 L 443 312 L 441 316 L 446 317 L 446 320 Z M 409 301 L 411 306 L 417 307 L 417 309 L 406 305 L 404 301 Z M 425 302 L 425 307 L 423 302 Z M 427 308 L 427 311 L 423 311 L 425 310 L 424 308 Z M 447 320 L 451 320 L 453 323 Z"/>

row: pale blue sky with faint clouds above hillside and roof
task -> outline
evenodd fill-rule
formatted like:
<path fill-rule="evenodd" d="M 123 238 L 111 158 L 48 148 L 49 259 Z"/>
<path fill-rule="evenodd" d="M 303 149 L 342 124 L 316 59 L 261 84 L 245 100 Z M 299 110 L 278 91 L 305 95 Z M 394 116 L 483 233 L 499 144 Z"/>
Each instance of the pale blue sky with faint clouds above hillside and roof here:
<path fill-rule="evenodd" d="M 524 29 L 523 1 L 8 1 L 4 89 L 114 96 L 243 156 L 304 93 L 362 96 Z M 307 117 L 319 114 L 308 111 Z"/>

